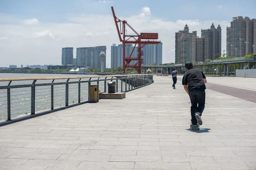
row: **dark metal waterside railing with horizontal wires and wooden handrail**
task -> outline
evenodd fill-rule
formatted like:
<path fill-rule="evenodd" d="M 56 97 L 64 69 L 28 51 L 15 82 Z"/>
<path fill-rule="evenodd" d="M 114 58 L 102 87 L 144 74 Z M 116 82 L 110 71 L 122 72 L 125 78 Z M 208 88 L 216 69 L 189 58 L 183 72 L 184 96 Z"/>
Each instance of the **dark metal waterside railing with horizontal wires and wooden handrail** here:
<path fill-rule="evenodd" d="M 154 83 L 153 75 L 107 75 L 0 79 L 0 121 L 22 115 L 53 112 L 88 102 L 88 85 L 107 92 L 116 81 L 116 92 L 127 92 Z"/>

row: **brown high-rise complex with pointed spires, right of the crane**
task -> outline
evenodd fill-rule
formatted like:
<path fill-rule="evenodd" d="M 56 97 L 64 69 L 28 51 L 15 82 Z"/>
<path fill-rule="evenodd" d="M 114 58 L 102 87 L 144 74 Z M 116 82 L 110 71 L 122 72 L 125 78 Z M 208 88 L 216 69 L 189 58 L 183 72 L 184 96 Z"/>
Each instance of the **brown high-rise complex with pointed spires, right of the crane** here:
<path fill-rule="evenodd" d="M 175 33 L 175 63 L 214 60 L 221 56 L 221 27 L 202 29 L 201 37 L 197 31 L 189 32 L 187 24 L 184 30 Z"/>

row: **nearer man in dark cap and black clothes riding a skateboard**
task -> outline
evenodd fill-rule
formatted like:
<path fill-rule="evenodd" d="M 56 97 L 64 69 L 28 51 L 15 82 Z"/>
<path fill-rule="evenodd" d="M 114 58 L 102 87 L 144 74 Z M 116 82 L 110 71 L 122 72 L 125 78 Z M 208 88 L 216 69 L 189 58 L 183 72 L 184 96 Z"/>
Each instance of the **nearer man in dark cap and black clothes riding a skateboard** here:
<path fill-rule="evenodd" d="M 191 124 L 202 125 L 201 116 L 205 108 L 206 77 L 202 70 L 194 68 L 191 62 L 186 62 L 185 67 L 187 71 L 183 76 L 182 85 L 191 101 Z"/>

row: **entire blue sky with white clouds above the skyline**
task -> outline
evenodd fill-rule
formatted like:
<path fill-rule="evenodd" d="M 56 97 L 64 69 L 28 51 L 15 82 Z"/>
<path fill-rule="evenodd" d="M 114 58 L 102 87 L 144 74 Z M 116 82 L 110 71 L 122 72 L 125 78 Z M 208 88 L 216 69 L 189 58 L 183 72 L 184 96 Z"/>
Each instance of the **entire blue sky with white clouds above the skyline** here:
<path fill-rule="evenodd" d="M 255 0 L 0 0 L 0 67 L 60 65 L 61 48 L 106 45 L 110 67 L 112 44 L 120 44 L 111 11 L 137 32 L 158 32 L 163 63 L 174 62 L 175 32 L 226 27 L 232 17 L 256 18 Z M 127 28 L 127 33 L 132 33 Z"/>

